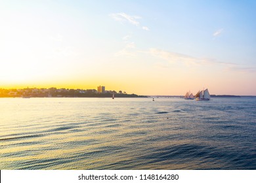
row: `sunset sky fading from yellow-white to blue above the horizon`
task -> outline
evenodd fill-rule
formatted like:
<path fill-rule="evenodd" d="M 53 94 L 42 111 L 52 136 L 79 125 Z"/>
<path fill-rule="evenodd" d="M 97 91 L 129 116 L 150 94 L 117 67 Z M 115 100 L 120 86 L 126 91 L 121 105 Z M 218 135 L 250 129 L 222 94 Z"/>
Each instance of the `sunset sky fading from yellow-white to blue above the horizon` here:
<path fill-rule="evenodd" d="M 256 1 L 0 0 L 0 88 L 256 95 Z"/>

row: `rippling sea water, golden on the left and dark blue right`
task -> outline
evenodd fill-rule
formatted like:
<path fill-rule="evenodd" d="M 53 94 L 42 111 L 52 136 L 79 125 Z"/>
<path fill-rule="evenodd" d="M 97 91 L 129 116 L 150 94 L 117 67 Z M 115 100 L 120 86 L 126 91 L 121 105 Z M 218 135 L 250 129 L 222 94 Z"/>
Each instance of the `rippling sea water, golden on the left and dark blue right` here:
<path fill-rule="evenodd" d="M 256 97 L 0 98 L 0 169 L 256 169 Z"/>

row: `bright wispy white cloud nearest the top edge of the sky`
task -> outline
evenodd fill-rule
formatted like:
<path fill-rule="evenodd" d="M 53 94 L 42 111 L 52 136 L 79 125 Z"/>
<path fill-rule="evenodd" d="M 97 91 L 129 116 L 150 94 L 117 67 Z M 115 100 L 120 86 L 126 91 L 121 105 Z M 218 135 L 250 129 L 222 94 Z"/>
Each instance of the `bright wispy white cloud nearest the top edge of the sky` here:
<path fill-rule="evenodd" d="M 138 21 L 139 19 L 141 19 L 140 16 L 137 16 L 137 15 L 132 16 L 132 15 L 126 14 L 124 12 L 112 13 L 112 14 L 110 14 L 110 16 L 118 22 L 129 22 L 130 24 L 140 27 L 140 22 Z M 142 26 L 141 28 L 146 31 L 149 31 L 149 28 L 146 26 Z"/>

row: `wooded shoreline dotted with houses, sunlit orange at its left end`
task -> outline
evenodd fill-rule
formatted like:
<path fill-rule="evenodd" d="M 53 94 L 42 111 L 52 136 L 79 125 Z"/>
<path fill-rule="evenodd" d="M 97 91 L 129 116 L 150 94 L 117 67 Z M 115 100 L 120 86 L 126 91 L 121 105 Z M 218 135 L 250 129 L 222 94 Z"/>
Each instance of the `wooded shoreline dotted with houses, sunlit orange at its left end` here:
<path fill-rule="evenodd" d="M 0 97 L 147 97 L 145 95 L 136 95 L 134 93 L 106 91 L 98 93 L 95 89 L 66 89 L 66 88 L 24 88 L 24 89 L 2 89 L 0 88 Z"/>

